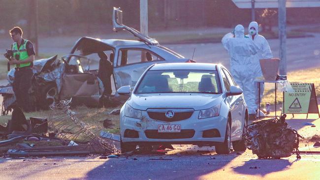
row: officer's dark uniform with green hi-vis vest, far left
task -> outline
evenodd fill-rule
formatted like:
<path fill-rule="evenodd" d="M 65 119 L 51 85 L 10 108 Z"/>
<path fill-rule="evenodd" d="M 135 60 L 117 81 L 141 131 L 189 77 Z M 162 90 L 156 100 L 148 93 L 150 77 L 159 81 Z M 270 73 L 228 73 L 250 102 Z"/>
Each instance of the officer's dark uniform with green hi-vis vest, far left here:
<path fill-rule="evenodd" d="M 22 39 L 20 46 L 14 42 L 11 45 L 13 56 L 16 60 L 26 60 L 35 55 L 32 42 Z M 26 112 L 33 111 L 29 89 L 31 88 L 32 79 L 32 62 L 16 64 L 13 81 L 13 91 L 16 96 L 18 106 L 22 107 Z"/>

